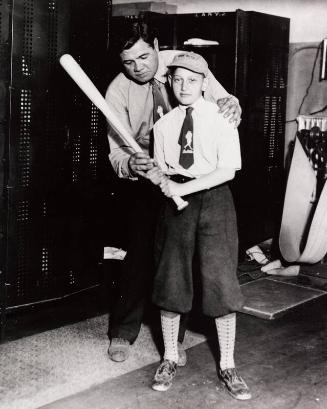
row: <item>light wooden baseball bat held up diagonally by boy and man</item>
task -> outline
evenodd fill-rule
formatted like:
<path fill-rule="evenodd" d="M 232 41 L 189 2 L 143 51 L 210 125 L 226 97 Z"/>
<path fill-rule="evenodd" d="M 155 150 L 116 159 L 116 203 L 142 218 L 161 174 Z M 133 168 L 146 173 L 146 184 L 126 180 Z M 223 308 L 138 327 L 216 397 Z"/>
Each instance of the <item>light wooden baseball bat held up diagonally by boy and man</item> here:
<path fill-rule="evenodd" d="M 141 147 L 124 128 L 123 124 L 117 118 L 116 114 L 110 109 L 104 97 L 83 71 L 81 66 L 70 54 L 64 54 L 60 57 L 59 62 L 68 75 L 76 82 L 85 95 L 92 103 L 103 113 L 113 129 L 118 133 L 122 140 L 129 145 L 135 152 L 143 152 Z M 178 210 L 184 209 L 188 202 L 179 196 L 173 196 L 172 199 L 177 205 Z"/>

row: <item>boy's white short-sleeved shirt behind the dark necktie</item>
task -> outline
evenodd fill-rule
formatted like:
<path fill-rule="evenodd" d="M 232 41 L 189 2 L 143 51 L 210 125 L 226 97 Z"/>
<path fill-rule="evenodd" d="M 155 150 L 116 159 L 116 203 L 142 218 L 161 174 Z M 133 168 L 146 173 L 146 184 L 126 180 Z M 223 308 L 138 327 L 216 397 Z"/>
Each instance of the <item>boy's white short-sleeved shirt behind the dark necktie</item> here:
<path fill-rule="evenodd" d="M 216 104 L 201 97 L 191 106 L 194 108 L 194 164 L 190 168 L 179 164 L 178 144 L 187 106 L 174 108 L 154 126 L 154 156 L 159 167 L 168 175 L 195 178 L 174 185 L 180 196 L 223 184 L 233 179 L 235 171 L 241 168 L 237 129 L 218 112 Z"/>

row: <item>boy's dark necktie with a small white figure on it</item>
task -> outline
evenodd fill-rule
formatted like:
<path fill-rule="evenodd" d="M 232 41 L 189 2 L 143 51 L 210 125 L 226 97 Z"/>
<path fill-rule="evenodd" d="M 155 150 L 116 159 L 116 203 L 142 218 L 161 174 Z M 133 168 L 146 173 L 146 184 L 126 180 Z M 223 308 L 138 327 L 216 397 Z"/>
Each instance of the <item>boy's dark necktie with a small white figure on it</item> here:
<path fill-rule="evenodd" d="M 194 163 L 192 111 L 192 107 L 186 108 L 186 115 L 178 140 L 178 143 L 181 145 L 179 164 L 185 169 L 188 169 Z"/>

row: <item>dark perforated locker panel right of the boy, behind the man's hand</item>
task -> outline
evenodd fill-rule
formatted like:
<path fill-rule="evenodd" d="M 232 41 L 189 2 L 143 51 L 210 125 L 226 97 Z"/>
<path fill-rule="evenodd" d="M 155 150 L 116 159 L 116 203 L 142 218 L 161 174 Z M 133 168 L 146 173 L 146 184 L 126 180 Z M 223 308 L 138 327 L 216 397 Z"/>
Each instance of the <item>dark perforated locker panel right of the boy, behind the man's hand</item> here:
<path fill-rule="evenodd" d="M 237 93 L 243 167 L 236 180 L 240 235 L 251 246 L 278 232 L 284 192 L 289 19 L 255 12 L 238 18 Z"/>

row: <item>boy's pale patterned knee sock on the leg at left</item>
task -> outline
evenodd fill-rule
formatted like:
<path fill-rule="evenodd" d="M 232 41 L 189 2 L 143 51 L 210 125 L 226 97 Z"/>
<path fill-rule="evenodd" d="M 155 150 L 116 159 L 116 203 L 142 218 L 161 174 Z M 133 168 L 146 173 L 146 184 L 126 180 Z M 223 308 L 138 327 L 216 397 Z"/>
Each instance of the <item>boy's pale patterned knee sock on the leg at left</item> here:
<path fill-rule="evenodd" d="M 161 311 L 161 328 L 165 346 L 164 359 L 178 362 L 177 338 L 180 315 L 171 317 Z"/>

